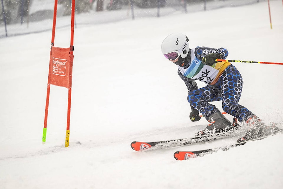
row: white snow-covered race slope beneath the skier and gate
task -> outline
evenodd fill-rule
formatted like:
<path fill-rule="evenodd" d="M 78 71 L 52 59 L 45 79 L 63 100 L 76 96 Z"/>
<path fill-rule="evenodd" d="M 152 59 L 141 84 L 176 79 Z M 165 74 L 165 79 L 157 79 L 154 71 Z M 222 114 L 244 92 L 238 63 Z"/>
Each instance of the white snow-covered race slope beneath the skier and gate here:
<path fill-rule="evenodd" d="M 190 47 L 224 47 L 229 59 L 283 62 L 282 1 L 270 5 L 273 29 L 267 2 L 76 28 L 69 148 L 68 90 L 57 86 L 41 144 L 51 32 L 2 38 L 0 188 L 282 188 L 282 134 L 189 161 L 173 153 L 237 138 L 160 151 L 130 147 L 193 136 L 207 124 L 189 120 L 187 89 L 162 55 L 162 40 L 182 32 Z M 69 33 L 57 30 L 55 46 L 68 47 Z M 282 124 L 283 66 L 233 64 L 244 79 L 240 103 Z"/>

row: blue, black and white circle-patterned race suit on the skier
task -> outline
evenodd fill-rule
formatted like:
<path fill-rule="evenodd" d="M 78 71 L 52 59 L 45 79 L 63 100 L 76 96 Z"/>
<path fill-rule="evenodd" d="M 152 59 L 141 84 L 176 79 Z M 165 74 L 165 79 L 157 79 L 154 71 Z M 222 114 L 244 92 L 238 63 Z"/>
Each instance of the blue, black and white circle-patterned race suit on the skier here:
<path fill-rule="evenodd" d="M 190 49 L 188 57 L 190 57 L 192 51 L 193 50 Z M 208 47 L 197 47 L 194 49 L 195 58 L 202 60 L 202 58 L 207 54 L 206 52 L 211 51 L 217 53 L 219 59 L 225 59 L 228 56 L 228 51 L 224 48 L 214 49 Z M 243 88 L 243 78 L 235 66 L 231 64 L 228 65 L 215 84 L 207 85 L 200 89 L 198 89 L 194 79 L 185 77 L 179 69 L 178 75 L 185 82 L 188 88 L 188 102 L 196 110 L 202 113 L 207 120 L 213 113 L 220 112 L 215 105 L 212 105 L 209 102 L 220 100 L 222 100 L 223 110 L 238 118 L 240 122 L 246 121 L 248 118 L 254 116 L 250 110 L 238 104 Z"/>

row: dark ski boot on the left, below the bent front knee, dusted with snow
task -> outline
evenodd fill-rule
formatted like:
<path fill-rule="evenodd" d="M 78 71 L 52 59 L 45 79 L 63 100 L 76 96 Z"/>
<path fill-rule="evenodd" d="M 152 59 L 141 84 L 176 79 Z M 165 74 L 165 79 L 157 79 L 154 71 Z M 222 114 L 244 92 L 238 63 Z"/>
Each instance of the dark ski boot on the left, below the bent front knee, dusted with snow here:
<path fill-rule="evenodd" d="M 226 131 L 233 131 L 238 126 L 237 118 L 233 119 L 233 123 L 231 123 L 221 112 L 216 112 L 209 117 L 209 124 L 204 130 L 198 131 L 195 133 L 195 136 L 202 136 L 214 133 L 222 133 Z"/>

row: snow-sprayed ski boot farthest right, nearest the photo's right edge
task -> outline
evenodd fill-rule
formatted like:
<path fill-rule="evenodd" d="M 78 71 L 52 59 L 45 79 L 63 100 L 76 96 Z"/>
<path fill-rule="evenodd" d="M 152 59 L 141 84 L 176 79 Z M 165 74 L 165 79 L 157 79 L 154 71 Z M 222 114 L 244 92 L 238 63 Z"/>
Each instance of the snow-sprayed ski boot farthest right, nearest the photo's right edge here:
<path fill-rule="evenodd" d="M 246 123 L 250 129 L 245 136 L 237 140 L 237 143 L 282 132 L 282 129 L 275 125 L 266 126 L 265 123 L 256 116 L 249 118 Z"/>

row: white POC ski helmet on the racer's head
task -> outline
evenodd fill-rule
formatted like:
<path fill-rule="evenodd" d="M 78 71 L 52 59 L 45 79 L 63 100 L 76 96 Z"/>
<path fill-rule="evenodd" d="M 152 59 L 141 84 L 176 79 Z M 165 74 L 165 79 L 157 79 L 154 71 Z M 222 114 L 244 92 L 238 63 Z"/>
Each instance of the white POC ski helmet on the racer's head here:
<path fill-rule="evenodd" d="M 172 33 L 168 35 L 161 44 L 163 54 L 178 51 L 182 58 L 186 58 L 189 53 L 189 39 L 182 33 Z"/>

